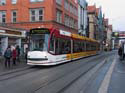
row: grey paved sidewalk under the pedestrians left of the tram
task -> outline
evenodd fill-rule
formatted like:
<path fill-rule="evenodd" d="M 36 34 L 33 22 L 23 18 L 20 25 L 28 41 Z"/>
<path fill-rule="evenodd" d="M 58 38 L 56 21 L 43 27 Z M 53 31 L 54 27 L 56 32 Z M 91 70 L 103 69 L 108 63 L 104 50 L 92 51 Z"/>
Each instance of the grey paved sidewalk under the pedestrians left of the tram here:
<path fill-rule="evenodd" d="M 0 56 L 0 73 L 28 66 L 26 64 L 26 60 L 24 59 L 24 57 L 20 57 L 20 62 L 17 61 L 15 66 L 12 65 L 13 62 L 11 60 L 10 68 L 6 68 L 5 65 L 4 65 L 4 62 L 5 62 L 4 57 Z"/>

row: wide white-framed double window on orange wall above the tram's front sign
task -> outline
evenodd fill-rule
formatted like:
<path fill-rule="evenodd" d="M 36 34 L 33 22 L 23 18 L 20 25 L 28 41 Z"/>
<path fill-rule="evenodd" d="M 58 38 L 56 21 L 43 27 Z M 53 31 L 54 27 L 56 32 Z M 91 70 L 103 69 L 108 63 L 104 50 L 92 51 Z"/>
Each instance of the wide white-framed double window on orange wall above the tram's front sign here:
<path fill-rule="evenodd" d="M 43 9 L 30 9 L 30 21 L 43 21 Z"/>

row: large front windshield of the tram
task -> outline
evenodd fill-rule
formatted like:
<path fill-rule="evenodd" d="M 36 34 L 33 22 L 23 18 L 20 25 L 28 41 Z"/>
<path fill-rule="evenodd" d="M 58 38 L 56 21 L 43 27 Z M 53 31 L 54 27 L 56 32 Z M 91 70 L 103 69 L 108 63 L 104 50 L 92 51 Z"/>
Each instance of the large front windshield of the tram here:
<path fill-rule="evenodd" d="M 31 35 L 30 51 L 47 51 L 48 49 L 48 34 Z"/>

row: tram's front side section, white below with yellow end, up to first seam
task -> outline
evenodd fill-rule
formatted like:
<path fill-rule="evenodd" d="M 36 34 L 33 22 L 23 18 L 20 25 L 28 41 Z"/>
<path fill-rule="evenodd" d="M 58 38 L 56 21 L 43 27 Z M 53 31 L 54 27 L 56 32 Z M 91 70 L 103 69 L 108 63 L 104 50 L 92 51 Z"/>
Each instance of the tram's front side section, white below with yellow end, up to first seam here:
<path fill-rule="evenodd" d="M 71 60 L 71 41 L 70 39 L 63 39 L 55 37 L 50 41 L 50 49 L 48 59 L 50 64 L 60 64 Z"/>

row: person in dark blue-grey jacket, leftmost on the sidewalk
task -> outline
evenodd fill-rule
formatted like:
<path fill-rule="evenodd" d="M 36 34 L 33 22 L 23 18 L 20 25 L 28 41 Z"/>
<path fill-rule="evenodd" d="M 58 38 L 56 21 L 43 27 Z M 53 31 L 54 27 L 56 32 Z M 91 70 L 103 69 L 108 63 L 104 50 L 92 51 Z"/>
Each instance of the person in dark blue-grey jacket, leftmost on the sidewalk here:
<path fill-rule="evenodd" d="M 12 57 L 12 52 L 11 52 L 10 46 L 8 46 L 8 48 L 6 49 L 6 51 L 4 53 L 4 57 L 5 57 L 5 67 L 10 68 L 10 59 Z"/>

